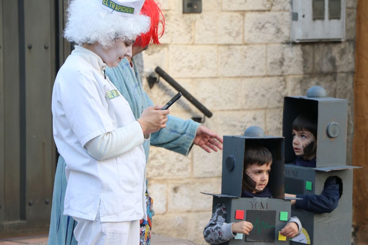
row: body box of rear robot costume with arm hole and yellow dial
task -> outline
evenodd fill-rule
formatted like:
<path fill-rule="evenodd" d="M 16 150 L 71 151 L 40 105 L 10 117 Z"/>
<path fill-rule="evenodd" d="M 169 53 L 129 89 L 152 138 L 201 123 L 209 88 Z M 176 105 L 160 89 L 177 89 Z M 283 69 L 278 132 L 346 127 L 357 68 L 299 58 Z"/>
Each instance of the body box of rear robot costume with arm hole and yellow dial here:
<path fill-rule="evenodd" d="M 346 245 L 351 243 L 351 206 L 353 169 L 355 168 L 359 167 L 344 165 L 310 168 L 285 164 L 285 193 L 319 195 L 326 179 L 330 176 L 339 177 L 343 187 L 339 205 L 331 213 L 311 213 L 301 209 L 291 209 L 291 216 L 298 217 L 303 226 L 302 234 L 292 239 L 292 245 Z"/>

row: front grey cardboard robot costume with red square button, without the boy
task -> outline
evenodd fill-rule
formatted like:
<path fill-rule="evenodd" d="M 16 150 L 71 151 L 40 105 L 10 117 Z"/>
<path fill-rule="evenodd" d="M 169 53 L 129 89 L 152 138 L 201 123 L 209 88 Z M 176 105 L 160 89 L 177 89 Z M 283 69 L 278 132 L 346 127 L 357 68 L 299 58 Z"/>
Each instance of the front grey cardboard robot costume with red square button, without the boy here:
<path fill-rule="evenodd" d="M 236 234 L 222 244 L 288 244 L 289 239 L 279 231 L 290 219 L 290 201 L 283 199 L 284 138 L 266 136 L 259 127 L 249 127 L 244 136 L 224 136 L 222 159 L 222 190 L 213 196 L 213 213 L 218 203 L 226 206 L 226 223 L 248 221 L 253 224 L 249 235 Z M 272 197 L 244 198 L 242 194 L 244 149 L 261 145 L 272 155 L 272 167 L 267 187 Z M 203 192 L 202 192 L 203 193 Z"/>

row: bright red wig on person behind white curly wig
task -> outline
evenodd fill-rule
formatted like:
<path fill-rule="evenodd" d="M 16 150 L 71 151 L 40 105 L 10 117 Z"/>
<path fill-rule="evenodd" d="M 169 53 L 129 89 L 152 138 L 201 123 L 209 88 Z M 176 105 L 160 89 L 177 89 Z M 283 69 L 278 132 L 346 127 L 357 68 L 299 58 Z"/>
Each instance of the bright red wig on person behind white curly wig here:
<path fill-rule="evenodd" d="M 158 4 L 154 0 L 145 0 L 141 14 L 147 15 L 151 18 L 151 27 L 147 33 L 142 33 L 137 37 L 136 44 L 138 46 L 145 47 L 149 43 L 160 44 L 159 38 L 162 37 L 165 29 L 165 18 Z M 162 29 L 159 32 L 159 24 L 161 23 Z"/>

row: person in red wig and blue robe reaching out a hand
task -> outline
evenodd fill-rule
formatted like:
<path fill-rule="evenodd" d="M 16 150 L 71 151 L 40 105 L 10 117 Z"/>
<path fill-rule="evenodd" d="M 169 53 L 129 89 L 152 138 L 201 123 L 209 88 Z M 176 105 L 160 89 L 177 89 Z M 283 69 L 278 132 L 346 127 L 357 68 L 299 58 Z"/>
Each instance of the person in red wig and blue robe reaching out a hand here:
<path fill-rule="evenodd" d="M 159 5 L 154 0 L 146 0 L 141 8 L 141 14 L 151 18 L 151 26 L 148 32 L 137 36 L 132 46 L 132 57 L 124 58 L 116 68 L 106 68 L 106 76 L 116 86 L 121 95 L 128 101 L 135 118 L 139 118 L 143 109 L 153 102 L 142 88 L 139 78 L 138 66 L 134 56 L 146 50 L 149 44 L 160 44 L 159 39 L 164 33 L 165 19 Z M 168 116 L 166 129 L 151 134 L 149 140 L 145 140 L 143 147 L 146 161 L 149 155 L 149 146 L 163 147 L 183 155 L 188 155 L 193 145 L 198 145 L 207 152 L 222 149 L 222 138 L 207 127 L 193 120 L 183 120 L 174 116 Z M 72 217 L 63 216 L 64 196 L 67 187 L 65 176 L 66 163 L 60 156 L 54 183 L 52 213 L 50 222 L 49 245 L 71 244 L 77 245 L 73 230 L 77 224 Z M 148 169 L 149 171 L 149 169 Z M 139 245 L 149 245 L 152 227 L 152 198 L 146 193 L 148 219 L 141 220 L 141 233 Z"/>

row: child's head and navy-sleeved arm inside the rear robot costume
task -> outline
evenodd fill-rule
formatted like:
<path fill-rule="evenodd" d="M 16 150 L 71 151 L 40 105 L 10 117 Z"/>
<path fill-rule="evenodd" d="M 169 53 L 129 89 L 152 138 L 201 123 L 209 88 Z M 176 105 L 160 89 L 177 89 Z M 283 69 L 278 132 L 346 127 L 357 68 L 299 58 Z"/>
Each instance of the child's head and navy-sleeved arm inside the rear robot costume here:
<path fill-rule="evenodd" d="M 293 122 L 293 148 L 296 154 L 294 164 L 303 167 L 316 166 L 317 151 L 317 115 L 307 113 L 299 115 Z M 296 209 L 313 213 L 330 213 L 336 209 L 342 195 L 342 185 L 335 176 L 326 179 L 320 195 L 293 195 L 285 197 L 302 198 L 291 200 Z"/>

